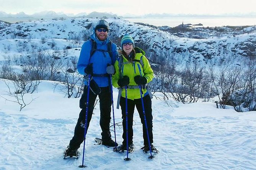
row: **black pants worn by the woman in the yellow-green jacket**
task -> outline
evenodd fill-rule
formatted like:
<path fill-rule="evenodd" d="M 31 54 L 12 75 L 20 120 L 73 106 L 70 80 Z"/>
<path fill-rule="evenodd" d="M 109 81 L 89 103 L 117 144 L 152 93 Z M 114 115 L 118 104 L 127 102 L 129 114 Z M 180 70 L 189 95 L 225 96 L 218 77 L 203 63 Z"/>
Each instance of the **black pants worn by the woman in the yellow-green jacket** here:
<path fill-rule="evenodd" d="M 149 135 L 149 141 L 150 143 L 153 143 L 153 116 L 152 116 L 152 101 L 149 95 L 146 95 L 143 97 L 143 104 L 145 109 L 145 115 L 147 120 L 147 127 L 148 127 L 148 135 Z M 121 97 L 120 99 L 120 106 L 122 109 L 122 125 L 123 125 L 123 142 L 122 144 L 126 145 L 126 98 Z M 139 112 L 140 116 L 140 122 L 142 123 L 142 129 L 143 129 L 143 140 L 144 145 L 148 144 L 148 138 L 147 138 L 147 129 L 145 125 L 143 110 L 142 110 L 142 102 L 141 99 L 127 99 L 127 119 L 128 119 L 128 144 L 133 143 L 133 115 L 134 115 L 134 109 L 135 106 L 137 108 L 137 111 Z"/>

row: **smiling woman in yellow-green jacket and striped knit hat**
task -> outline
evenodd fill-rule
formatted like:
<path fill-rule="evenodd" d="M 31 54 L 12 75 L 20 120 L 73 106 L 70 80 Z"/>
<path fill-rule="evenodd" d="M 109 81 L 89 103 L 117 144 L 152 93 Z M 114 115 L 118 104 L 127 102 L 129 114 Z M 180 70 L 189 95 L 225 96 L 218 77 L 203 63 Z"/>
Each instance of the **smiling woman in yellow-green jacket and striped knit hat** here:
<path fill-rule="evenodd" d="M 121 40 L 121 55 L 114 64 L 115 74 L 113 75 L 113 86 L 119 88 L 120 106 L 122 109 L 122 125 L 123 125 L 123 142 L 117 147 L 117 151 L 124 152 L 127 150 L 126 145 L 126 90 L 127 87 L 127 129 L 128 129 L 128 151 L 134 150 L 133 138 L 133 115 L 135 106 L 139 112 L 140 121 L 143 126 L 144 152 L 149 151 L 147 129 L 142 110 L 142 100 L 140 87 L 142 87 L 143 104 L 145 108 L 145 117 L 147 120 L 148 135 L 152 151 L 157 151 L 153 146 L 152 133 L 152 101 L 149 95 L 150 91 L 145 88 L 147 83 L 153 79 L 153 70 L 150 67 L 148 59 L 144 56 L 145 52 L 138 47 L 134 47 L 134 40 L 130 35 L 124 35 Z M 151 93 L 150 93 L 151 94 Z M 119 102 L 118 106 L 119 107 Z"/>

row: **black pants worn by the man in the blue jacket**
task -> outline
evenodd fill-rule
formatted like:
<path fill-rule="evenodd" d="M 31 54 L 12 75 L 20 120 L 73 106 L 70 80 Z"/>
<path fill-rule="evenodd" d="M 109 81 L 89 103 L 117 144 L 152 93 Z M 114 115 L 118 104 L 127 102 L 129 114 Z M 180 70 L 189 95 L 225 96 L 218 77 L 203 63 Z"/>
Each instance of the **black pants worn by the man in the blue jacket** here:
<path fill-rule="evenodd" d="M 100 120 L 99 125 L 101 127 L 101 137 L 103 141 L 111 140 L 111 133 L 109 131 L 109 123 L 111 120 L 111 93 L 109 87 L 101 87 L 101 93 L 99 93 L 99 110 L 100 110 Z M 91 117 L 93 114 L 94 104 L 97 95 L 95 95 L 91 89 L 89 92 L 88 101 L 88 114 L 87 114 L 87 125 L 86 133 L 90 125 Z M 85 133 L 85 116 L 86 116 L 86 101 L 87 101 L 87 87 L 83 91 L 83 95 L 80 99 L 80 111 L 77 125 L 75 126 L 75 132 L 72 140 L 70 140 L 69 146 L 72 149 L 78 149 L 80 144 L 83 143 L 84 133 Z"/>

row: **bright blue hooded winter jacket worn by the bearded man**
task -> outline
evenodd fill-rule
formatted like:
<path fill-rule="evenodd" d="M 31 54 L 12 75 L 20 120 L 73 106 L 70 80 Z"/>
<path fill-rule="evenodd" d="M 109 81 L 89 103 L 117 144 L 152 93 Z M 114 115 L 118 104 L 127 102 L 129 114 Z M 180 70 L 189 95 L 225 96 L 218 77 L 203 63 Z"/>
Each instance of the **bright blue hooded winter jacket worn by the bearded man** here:
<path fill-rule="evenodd" d="M 90 36 L 91 39 L 95 40 L 97 43 L 97 49 L 108 50 L 108 42 L 110 41 L 109 36 L 106 40 L 100 41 L 96 38 L 96 34 L 92 34 Z M 80 74 L 85 74 L 85 68 L 89 63 L 93 63 L 93 74 L 106 74 L 106 67 L 108 64 L 114 65 L 118 52 L 116 44 L 112 43 L 112 58 L 110 58 L 108 52 L 104 51 L 95 51 L 92 56 L 91 48 L 92 42 L 91 40 L 86 41 L 81 48 L 80 56 L 77 63 L 77 70 Z M 109 76 L 107 77 L 93 77 L 95 82 L 99 87 L 107 87 L 109 86 Z M 85 79 L 85 85 L 88 85 L 88 79 Z"/>

